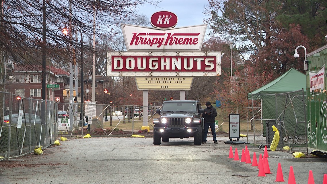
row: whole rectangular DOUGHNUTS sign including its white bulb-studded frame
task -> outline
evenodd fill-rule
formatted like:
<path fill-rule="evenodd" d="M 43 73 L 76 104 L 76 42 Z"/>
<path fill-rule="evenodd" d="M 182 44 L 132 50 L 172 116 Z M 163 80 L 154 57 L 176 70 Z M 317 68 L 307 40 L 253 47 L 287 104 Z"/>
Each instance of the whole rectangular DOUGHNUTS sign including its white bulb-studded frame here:
<path fill-rule="evenodd" d="M 220 52 L 108 52 L 112 76 L 220 76 Z"/>

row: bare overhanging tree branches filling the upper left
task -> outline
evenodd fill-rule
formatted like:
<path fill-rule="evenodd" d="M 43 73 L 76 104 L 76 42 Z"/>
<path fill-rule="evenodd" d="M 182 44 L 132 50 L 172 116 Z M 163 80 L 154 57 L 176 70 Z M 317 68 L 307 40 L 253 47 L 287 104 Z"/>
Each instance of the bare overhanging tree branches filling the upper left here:
<path fill-rule="evenodd" d="M 51 61 L 74 62 L 66 56 L 74 52 L 72 48 L 81 46 L 80 41 L 75 39 L 80 36 L 73 35 L 77 30 L 79 35 L 82 34 L 85 38 L 92 38 L 95 34 L 97 38 L 105 36 L 112 39 L 116 32 L 114 27 L 119 21 L 135 15 L 137 5 L 157 4 L 156 0 L 1 2 L 0 49 L 15 64 L 24 65 L 42 63 L 39 56 L 44 48 L 43 30 L 46 32 L 47 62 L 50 62 L 50 58 Z M 62 34 L 65 27 L 69 30 L 68 36 Z M 86 52 L 92 51 L 92 47 L 85 46 L 84 49 Z"/>

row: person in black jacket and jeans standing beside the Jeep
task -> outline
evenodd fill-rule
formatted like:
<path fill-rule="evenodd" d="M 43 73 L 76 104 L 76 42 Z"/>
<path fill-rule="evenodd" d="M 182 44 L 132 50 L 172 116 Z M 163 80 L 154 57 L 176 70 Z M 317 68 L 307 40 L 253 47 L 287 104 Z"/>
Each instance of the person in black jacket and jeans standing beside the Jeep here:
<path fill-rule="evenodd" d="M 210 101 L 205 103 L 207 108 L 203 109 L 202 117 L 204 118 L 204 132 L 202 134 L 202 143 L 207 143 L 207 134 L 209 126 L 212 132 L 212 139 L 217 144 L 216 132 L 215 132 L 215 117 L 217 116 L 216 109 L 211 105 Z"/>

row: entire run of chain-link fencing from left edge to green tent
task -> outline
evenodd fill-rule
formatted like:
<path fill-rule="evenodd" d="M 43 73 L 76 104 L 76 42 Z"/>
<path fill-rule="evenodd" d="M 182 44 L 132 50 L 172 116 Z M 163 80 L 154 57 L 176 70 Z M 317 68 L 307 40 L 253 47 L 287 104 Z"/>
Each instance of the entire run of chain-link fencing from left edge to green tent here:
<path fill-rule="evenodd" d="M 275 125 L 281 137 L 279 149 L 288 146 L 290 151 L 307 153 L 303 91 L 254 95 L 260 98 L 249 101 L 248 107 L 215 107 L 216 134 L 228 135 L 229 114 L 240 114 L 240 133 L 253 136 L 256 145 L 271 144 L 271 126 Z M 38 146 L 48 147 L 59 136 L 152 136 L 152 121 L 160 117 L 156 109 L 161 108 L 94 104 L 95 116 L 88 117 L 88 104 L 17 99 L 5 92 L 0 92 L 0 98 L 0 159 L 33 152 Z"/>

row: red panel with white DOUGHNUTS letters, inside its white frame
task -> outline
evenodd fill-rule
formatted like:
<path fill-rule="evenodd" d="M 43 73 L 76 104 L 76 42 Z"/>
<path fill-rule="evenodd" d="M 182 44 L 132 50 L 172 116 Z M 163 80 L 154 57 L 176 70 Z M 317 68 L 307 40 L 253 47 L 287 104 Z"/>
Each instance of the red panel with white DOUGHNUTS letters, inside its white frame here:
<path fill-rule="evenodd" d="M 216 56 L 111 56 L 112 71 L 215 72 Z"/>

